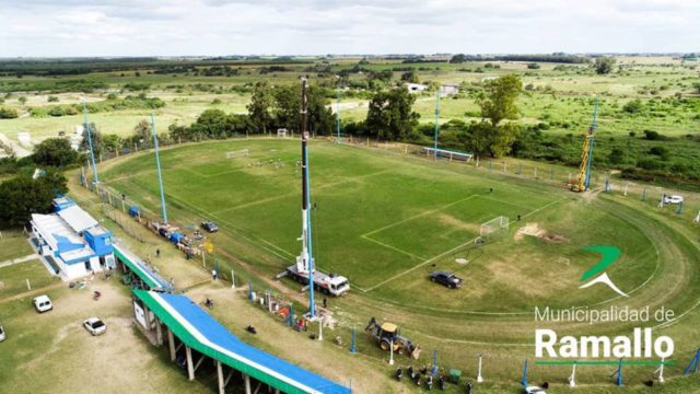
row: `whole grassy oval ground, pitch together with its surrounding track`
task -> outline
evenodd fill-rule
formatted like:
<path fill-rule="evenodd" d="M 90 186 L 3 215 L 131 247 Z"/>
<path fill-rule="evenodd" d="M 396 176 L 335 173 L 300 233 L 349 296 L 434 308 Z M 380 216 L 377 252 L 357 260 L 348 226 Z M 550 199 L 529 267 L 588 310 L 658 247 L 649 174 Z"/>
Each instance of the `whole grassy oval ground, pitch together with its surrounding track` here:
<path fill-rule="evenodd" d="M 226 159 L 226 152 L 243 150 L 249 154 Z M 185 228 L 217 221 L 222 231 L 211 237 L 215 248 L 272 278 L 301 248 L 299 158 L 299 140 L 164 150 L 171 221 Z M 534 321 L 535 306 L 673 309 L 679 318 L 655 327 L 676 340 L 678 364 L 668 374 L 680 374 L 680 363 L 695 351 L 699 338 L 690 327 L 700 320 L 697 229 L 654 210 L 651 202 L 576 195 L 530 179 L 477 173 L 465 164 L 323 140 L 312 141 L 310 161 L 317 267 L 339 273 L 352 285 L 350 296 L 331 300 L 346 328 L 361 327 L 371 316 L 397 322 L 423 348 L 440 349 L 446 363 L 472 370 L 475 355 L 488 355 L 490 373 L 504 382 L 517 376 L 522 361 L 533 356 L 534 331 L 542 326 Z M 152 153 L 108 163 L 101 181 L 125 193 L 129 204 L 160 212 Z M 508 232 L 483 245 L 475 242 L 481 223 L 499 216 L 510 219 Z M 630 298 L 604 286 L 579 288 L 582 274 L 598 259 L 583 250 L 591 245 L 621 251 L 607 273 Z M 455 271 L 464 287 L 452 291 L 431 283 L 428 274 L 435 269 Z M 637 326 L 545 325 L 571 335 L 629 335 Z M 370 357 L 384 357 L 369 338 L 359 340 Z M 537 373 L 557 381 L 568 371 L 538 367 Z M 579 373 L 588 383 L 609 374 L 604 367 Z M 649 371 L 628 373 L 640 383 Z"/>

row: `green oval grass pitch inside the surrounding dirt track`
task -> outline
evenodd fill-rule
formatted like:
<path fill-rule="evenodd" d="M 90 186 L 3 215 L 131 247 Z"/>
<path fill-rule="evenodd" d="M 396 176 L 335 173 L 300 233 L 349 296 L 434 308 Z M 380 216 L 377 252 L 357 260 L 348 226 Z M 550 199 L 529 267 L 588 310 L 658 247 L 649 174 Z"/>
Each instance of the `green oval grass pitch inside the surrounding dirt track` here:
<path fill-rule="evenodd" d="M 301 247 L 299 150 L 296 140 L 166 150 L 166 199 L 255 240 L 278 262 L 261 267 L 272 276 Z M 584 246 L 622 251 L 609 270 L 622 289 L 641 287 L 658 267 L 655 241 L 634 225 L 635 213 L 602 199 L 475 174 L 464 164 L 318 140 L 310 152 L 317 266 L 349 277 L 354 291 L 369 297 L 417 309 L 529 314 L 537 304 L 591 305 L 617 297 L 578 289 L 581 274 L 597 259 Z M 112 166 L 102 179 L 159 211 L 152 155 Z M 481 224 L 499 216 L 510 219 L 510 230 L 480 246 L 475 240 Z M 457 273 L 464 288 L 407 297 L 433 289 L 427 275 L 434 269 Z"/>

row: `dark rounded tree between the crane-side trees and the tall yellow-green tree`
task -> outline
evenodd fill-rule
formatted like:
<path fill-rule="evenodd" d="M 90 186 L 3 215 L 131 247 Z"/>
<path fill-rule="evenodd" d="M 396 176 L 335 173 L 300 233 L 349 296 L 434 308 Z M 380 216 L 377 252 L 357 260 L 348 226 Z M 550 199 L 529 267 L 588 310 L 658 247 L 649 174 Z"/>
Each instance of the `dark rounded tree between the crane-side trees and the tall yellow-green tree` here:
<path fill-rule="evenodd" d="M 370 101 L 365 126 L 381 139 L 406 139 L 418 125 L 420 115 L 412 111 L 416 96 L 406 89 L 378 92 Z"/>

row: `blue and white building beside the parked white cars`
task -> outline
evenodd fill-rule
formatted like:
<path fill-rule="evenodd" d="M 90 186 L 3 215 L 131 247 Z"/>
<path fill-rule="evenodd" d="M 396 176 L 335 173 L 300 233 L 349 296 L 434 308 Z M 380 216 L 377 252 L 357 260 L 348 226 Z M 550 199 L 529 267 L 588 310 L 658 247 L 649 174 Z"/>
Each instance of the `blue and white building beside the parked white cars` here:
<path fill-rule="evenodd" d="M 65 280 L 115 268 L 113 234 L 70 198 L 54 200 L 54 213 L 32 215 L 32 241 Z"/>

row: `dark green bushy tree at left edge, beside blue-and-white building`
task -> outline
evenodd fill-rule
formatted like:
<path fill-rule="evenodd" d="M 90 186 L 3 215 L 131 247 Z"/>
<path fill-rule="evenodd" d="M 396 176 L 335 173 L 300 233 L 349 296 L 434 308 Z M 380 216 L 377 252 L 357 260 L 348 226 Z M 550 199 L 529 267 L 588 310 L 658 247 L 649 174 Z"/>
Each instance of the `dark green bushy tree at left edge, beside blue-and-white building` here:
<path fill-rule="evenodd" d="M 22 225 L 32 213 L 48 213 L 56 195 L 68 192 L 66 177 L 54 171 L 34 179 L 28 174 L 18 175 L 0 184 L 0 219 L 12 225 Z"/>

